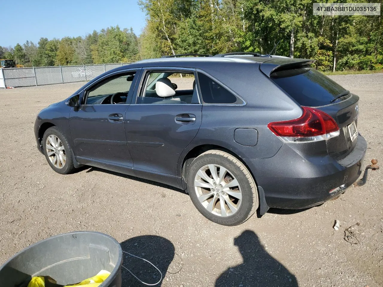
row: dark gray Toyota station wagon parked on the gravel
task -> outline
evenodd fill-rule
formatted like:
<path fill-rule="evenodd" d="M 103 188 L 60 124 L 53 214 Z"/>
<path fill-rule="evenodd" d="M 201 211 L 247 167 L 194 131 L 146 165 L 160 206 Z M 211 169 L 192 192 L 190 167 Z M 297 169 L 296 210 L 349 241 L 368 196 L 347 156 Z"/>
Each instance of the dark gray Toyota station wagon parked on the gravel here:
<path fill-rule="evenodd" d="M 205 56 L 103 73 L 38 114 L 39 150 L 57 173 L 89 165 L 184 189 L 223 225 L 322 204 L 358 179 L 357 95 L 313 60 Z"/>

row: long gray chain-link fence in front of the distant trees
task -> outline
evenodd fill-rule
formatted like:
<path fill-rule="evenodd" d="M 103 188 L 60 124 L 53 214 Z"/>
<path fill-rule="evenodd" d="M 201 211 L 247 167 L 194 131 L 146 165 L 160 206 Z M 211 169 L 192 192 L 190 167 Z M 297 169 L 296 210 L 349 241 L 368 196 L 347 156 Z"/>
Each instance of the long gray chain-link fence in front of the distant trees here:
<path fill-rule="evenodd" d="M 0 82 L 3 81 L 6 88 L 83 82 L 92 80 L 106 71 L 128 64 L 3 68 Z M 0 87 L 4 88 L 4 86 L 0 83 Z"/>

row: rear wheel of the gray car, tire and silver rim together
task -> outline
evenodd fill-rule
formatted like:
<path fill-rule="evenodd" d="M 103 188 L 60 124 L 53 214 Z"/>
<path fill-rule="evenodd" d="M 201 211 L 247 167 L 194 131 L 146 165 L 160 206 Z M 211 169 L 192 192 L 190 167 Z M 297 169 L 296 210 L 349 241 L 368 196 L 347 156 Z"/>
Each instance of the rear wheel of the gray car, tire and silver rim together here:
<path fill-rule="evenodd" d="M 220 150 L 208 150 L 193 160 L 187 186 L 196 209 L 221 225 L 241 224 L 259 206 L 257 186 L 249 170 L 231 154 Z"/>

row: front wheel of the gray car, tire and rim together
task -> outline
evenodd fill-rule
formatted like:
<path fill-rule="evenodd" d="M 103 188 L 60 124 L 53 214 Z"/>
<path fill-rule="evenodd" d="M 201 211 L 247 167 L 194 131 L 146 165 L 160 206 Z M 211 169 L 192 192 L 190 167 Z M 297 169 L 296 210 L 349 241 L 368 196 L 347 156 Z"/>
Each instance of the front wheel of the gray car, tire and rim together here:
<path fill-rule="evenodd" d="M 59 141 L 56 140 L 56 142 L 52 143 L 51 140 L 54 140 L 55 137 L 56 139 L 59 139 Z M 57 143 L 56 146 L 54 143 Z M 57 127 L 50 127 L 44 132 L 41 145 L 43 146 L 45 158 L 52 170 L 61 174 L 73 173 L 76 170 L 73 165 L 72 150 L 70 149 L 68 140 Z M 51 149 L 49 149 L 48 146 L 50 146 Z M 55 147 L 56 149 L 54 150 L 53 148 Z M 58 157 L 57 153 L 59 153 Z"/>

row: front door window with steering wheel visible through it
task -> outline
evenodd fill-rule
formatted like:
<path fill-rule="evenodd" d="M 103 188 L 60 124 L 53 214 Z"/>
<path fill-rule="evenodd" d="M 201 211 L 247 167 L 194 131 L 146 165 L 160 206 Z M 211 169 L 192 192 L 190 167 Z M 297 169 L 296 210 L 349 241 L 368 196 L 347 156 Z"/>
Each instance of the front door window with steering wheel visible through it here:
<path fill-rule="evenodd" d="M 125 104 L 136 71 L 119 74 L 88 91 L 85 104 Z"/>

